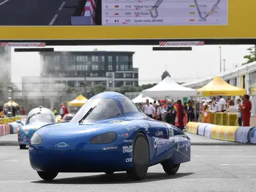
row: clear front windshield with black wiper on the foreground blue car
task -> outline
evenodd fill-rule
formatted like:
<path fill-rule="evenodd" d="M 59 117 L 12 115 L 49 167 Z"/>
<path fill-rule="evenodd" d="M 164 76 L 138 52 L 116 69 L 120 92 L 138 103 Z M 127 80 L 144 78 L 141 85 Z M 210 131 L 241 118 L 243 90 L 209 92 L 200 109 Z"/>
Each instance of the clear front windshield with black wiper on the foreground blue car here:
<path fill-rule="evenodd" d="M 84 121 L 98 121 L 121 115 L 120 108 L 114 99 L 89 99 L 70 122 L 78 123 L 90 109 L 92 111 Z"/>

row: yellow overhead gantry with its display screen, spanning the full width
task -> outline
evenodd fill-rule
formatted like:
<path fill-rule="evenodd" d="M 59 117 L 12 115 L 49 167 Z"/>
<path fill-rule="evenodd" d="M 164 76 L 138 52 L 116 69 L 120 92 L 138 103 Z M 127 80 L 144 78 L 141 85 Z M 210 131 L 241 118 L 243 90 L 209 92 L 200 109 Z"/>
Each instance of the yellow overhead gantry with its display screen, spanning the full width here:
<path fill-rule="evenodd" d="M 0 0 L 0 46 L 9 40 L 256 39 L 255 7 L 256 0 Z"/>

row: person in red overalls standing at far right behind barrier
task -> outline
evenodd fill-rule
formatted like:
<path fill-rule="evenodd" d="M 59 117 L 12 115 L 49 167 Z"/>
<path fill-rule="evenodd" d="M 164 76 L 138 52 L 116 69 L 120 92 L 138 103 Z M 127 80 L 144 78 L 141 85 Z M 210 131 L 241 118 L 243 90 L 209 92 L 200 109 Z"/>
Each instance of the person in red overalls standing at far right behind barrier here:
<path fill-rule="evenodd" d="M 242 119 L 243 119 L 243 127 L 250 126 L 250 118 L 251 118 L 251 101 L 249 95 L 243 95 L 243 108 L 242 108 Z"/>

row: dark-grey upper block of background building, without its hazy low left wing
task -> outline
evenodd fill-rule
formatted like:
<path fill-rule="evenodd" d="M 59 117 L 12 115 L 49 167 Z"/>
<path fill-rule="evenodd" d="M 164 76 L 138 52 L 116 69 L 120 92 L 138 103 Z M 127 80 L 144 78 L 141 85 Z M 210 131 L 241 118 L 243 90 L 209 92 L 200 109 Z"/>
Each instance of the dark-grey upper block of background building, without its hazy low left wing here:
<path fill-rule="evenodd" d="M 132 66 L 134 52 L 83 51 L 44 52 L 41 55 L 41 77 L 64 83 L 71 89 L 90 91 L 98 84 L 108 89 L 124 85 L 138 86 L 138 69 Z"/>

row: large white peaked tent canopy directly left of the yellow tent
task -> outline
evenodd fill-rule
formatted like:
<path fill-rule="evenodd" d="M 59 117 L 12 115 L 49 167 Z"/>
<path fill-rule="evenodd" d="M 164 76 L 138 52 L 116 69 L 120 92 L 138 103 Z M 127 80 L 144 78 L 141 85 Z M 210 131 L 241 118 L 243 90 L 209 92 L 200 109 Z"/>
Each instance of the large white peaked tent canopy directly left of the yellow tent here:
<path fill-rule="evenodd" d="M 170 77 L 166 77 L 160 83 L 151 87 L 150 89 L 145 89 L 142 91 L 143 97 L 190 97 L 196 96 L 197 91 L 195 89 L 190 89 L 188 87 L 183 87 L 179 85 L 175 81 L 173 81 Z"/>

